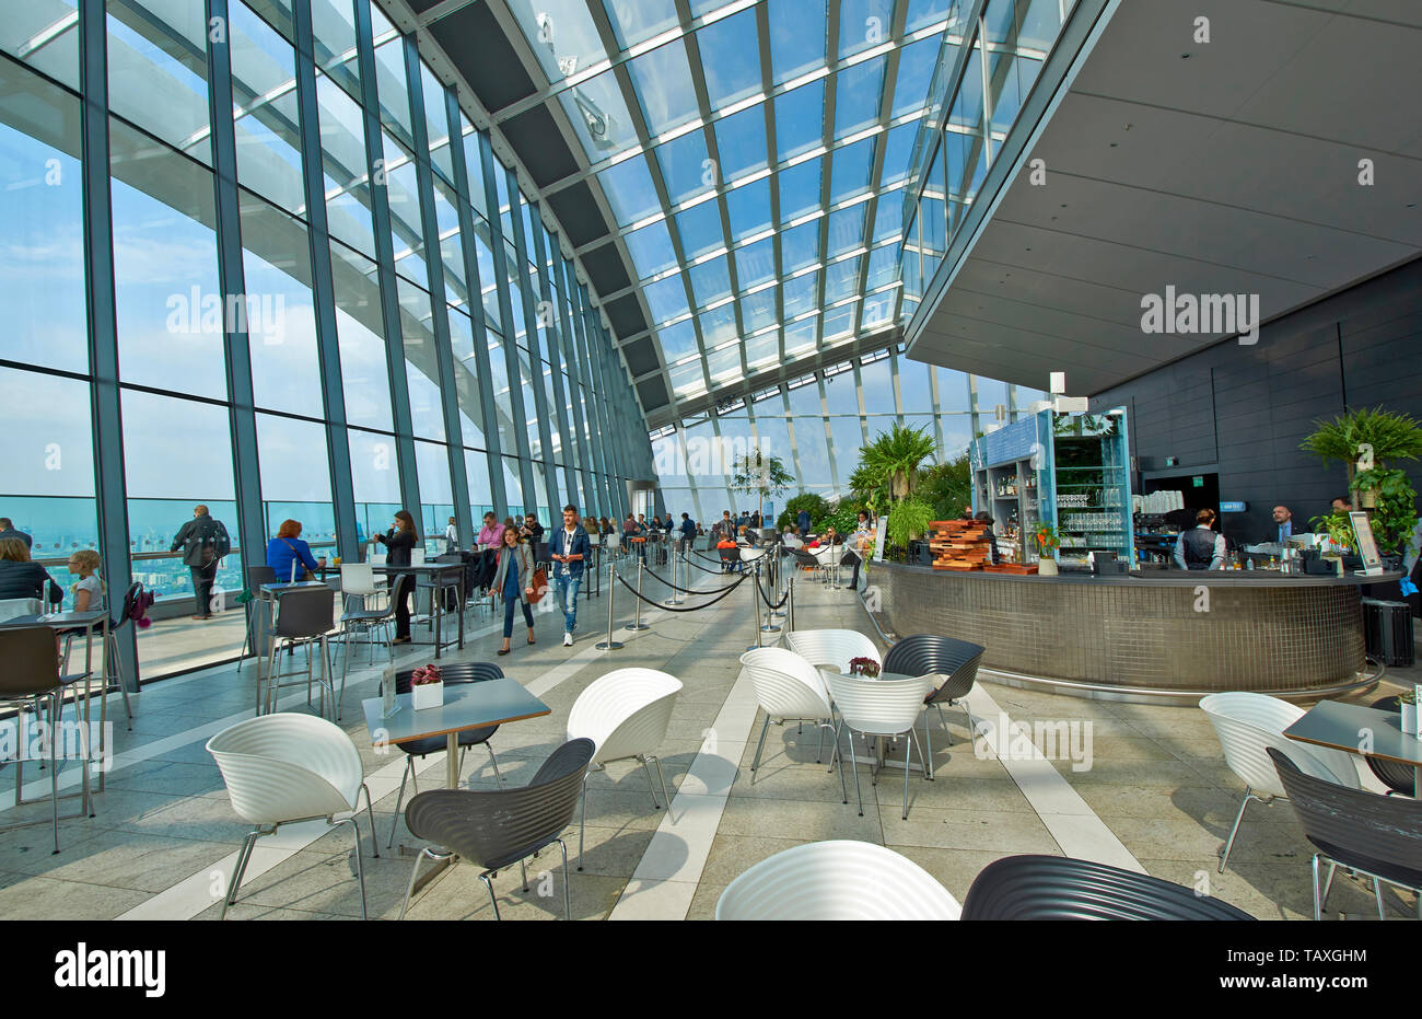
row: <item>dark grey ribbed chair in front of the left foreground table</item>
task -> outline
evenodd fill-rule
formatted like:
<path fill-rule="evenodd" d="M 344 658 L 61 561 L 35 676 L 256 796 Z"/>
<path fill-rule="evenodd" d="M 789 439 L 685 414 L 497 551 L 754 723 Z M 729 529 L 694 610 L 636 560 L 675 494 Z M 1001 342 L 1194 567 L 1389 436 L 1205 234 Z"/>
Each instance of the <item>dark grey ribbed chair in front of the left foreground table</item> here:
<path fill-rule="evenodd" d="M 501 788 L 498 791 L 474 791 L 464 788 L 441 788 L 421 793 L 405 808 L 405 824 L 417 838 L 428 838 L 449 852 L 455 852 L 483 868 L 479 880 L 489 891 L 493 904 L 493 918 L 499 919 L 499 899 L 493 895 L 493 878 L 510 864 L 518 864 L 523 874 L 523 891 L 528 891 L 529 875 L 525 860 L 535 852 L 557 843 L 563 851 L 563 915 L 573 918 L 573 905 L 567 894 L 567 845 L 563 830 L 573 821 L 573 810 L 583 788 L 587 763 L 593 759 L 594 744 L 589 739 L 569 740 L 533 776 L 533 781 L 522 788 Z M 404 919 L 410 907 L 410 895 L 419 874 L 419 861 L 434 858 L 432 848 L 421 850 L 410 874 L 410 888 L 400 907 Z"/>

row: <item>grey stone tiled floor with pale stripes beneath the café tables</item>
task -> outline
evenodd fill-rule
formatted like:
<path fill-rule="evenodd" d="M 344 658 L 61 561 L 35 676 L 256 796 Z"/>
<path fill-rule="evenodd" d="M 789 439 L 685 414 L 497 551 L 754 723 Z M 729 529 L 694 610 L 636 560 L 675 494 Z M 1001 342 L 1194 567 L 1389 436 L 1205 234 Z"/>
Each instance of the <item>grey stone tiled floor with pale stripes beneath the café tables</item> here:
<path fill-rule="evenodd" d="M 693 571 L 697 588 L 721 578 Z M 630 599 L 619 592 L 619 623 L 630 618 Z M 665 595 L 650 578 L 647 593 Z M 693 599 L 693 602 L 697 599 Z M 539 643 L 515 638 L 515 650 L 495 658 L 498 628 L 475 613 L 469 639 L 455 659 L 495 660 L 538 693 L 553 713 L 505 726 L 493 737 L 503 777 L 526 781 L 563 740 L 567 713 L 579 692 L 611 669 L 648 666 L 678 676 L 685 689 L 661 747 L 671 813 L 654 810 L 640 767 L 613 764 L 589 783 L 583 871 L 572 877 L 573 914 L 592 918 L 707 918 L 721 889 L 751 864 L 799 843 L 859 838 L 882 843 L 934 874 L 960 901 L 988 862 L 1018 852 L 1064 852 L 1109 860 L 1180 884 L 1207 889 L 1260 918 L 1311 915 L 1310 850 L 1287 804 L 1251 806 L 1236 843 L 1230 870 L 1216 872 L 1216 851 L 1233 821 L 1241 783 L 1224 767 L 1204 716 L 1193 707 L 1153 707 L 1079 700 L 980 683 L 970 706 L 977 716 L 1005 712 L 1012 720 L 1089 723 L 1091 767 L 1071 761 L 1007 761 L 984 740 L 968 740 L 961 710 L 944 714 L 947 733 L 930 716 L 936 780 L 920 774 L 909 783 L 909 820 L 900 817 L 903 773 L 890 769 L 870 784 L 860 769 L 865 797 L 859 815 L 855 790 L 842 800 L 829 773 L 829 750 L 815 761 L 818 732 L 772 726 L 761 769 L 752 783 L 749 763 L 762 716 L 741 677 L 738 658 L 755 643 L 749 588 L 700 612 L 648 609 L 651 629 L 619 628 L 624 648 L 597 652 L 596 628 L 606 602 L 580 605 L 582 630 L 574 648 L 560 646 L 556 616 L 539 615 Z M 502 621 L 502 615 L 501 615 Z M 796 622 L 802 628 L 849 626 L 872 632 L 867 616 L 848 591 L 796 586 Z M 774 639 L 768 638 L 768 639 Z M 404 649 L 417 663 L 428 652 Z M 1408 672 L 1411 679 L 1412 672 Z M 246 834 L 233 814 L 205 741 L 249 717 L 253 672 L 232 667 L 164 680 L 138 699 L 132 733 L 122 706 L 108 788 L 97 815 L 61 824 L 63 852 L 51 854 L 44 824 L 0 833 L 0 918 L 215 918 L 228 868 Z M 394 815 L 404 757 L 377 754 L 370 746 L 360 700 L 374 696 L 378 670 L 351 672 L 343 727 L 360 749 L 375 797 L 380 858 L 370 855 L 364 815 L 361 845 L 370 915 L 394 918 L 410 880 L 410 857 L 398 845 L 415 840 Z M 1385 692 L 1392 687 L 1385 685 Z M 1364 699 L 1381 696 L 1365 695 Z M 304 710 L 292 693 L 284 706 Z M 1081 730 L 1085 732 L 1085 730 Z M 417 761 L 421 788 L 444 781 L 442 754 Z M 492 788 L 493 771 L 481 749 L 469 751 L 464 781 Z M 47 793 L 47 773 L 26 769 L 30 794 Z M 73 783 L 65 769 L 61 781 Z M 850 776 L 846 771 L 846 783 Z M 14 766 L 0 769 L 0 824 L 47 817 L 48 806 L 16 808 Z M 680 793 L 678 793 L 680 790 Z M 407 801 L 411 794 L 407 790 Z M 660 790 L 658 790 L 660 801 Z M 74 801 L 65 807 L 73 808 Z M 391 828 L 397 848 L 387 848 Z M 576 823 L 569 851 L 577 852 Z M 414 899 L 410 917 L 491 919 L 492 909 L 476 868 L 459 862 Z M 529 867 L 529 891 L 518 871 L 499 874 L 495 887 L 505 918 L 547 919 L 562 914 L 563 874 L 556 847 Z M 1386 894 L 1395 917 L 1415 917 L 1411 895 Z M 1342 878 L 1330 899 L 1331 914 L 1367 917 L 1372 897 Z M 324 823 L 283 828 L 259 841 L 239 902 L 229 918 L 358 918 L 350 827 Z"/>

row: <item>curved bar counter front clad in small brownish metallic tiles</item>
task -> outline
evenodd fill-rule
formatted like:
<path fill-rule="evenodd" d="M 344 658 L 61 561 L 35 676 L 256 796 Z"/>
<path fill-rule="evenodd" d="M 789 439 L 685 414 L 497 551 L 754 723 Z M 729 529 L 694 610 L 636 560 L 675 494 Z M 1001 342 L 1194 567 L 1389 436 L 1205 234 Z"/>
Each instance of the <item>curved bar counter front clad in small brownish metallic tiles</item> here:
<path fill-rule="evenodd" d="M 876 562 L 869 585 L 894 635 L 943 633 L 985 646 L 984 679 L 1180 703 L 1220 690 L 1307 699 L 1368 686 L 1359 589 L 1399 576 L 1037 576 Z"/>

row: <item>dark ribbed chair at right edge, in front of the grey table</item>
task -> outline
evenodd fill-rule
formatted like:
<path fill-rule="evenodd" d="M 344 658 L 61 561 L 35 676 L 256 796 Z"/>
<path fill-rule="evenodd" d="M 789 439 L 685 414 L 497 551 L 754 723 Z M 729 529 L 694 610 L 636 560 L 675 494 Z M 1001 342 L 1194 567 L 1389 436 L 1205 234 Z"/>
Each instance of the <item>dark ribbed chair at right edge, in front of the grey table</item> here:
<path fill-rule="evenodd" d="M 1422 803 L 1315 778 L 1300 771 L 1294 761 L 1274 747 L 1266 750 L 1284 784 L 1290 806 L 1298 814 L 1304 837 L 1318 850 L 1313 861 L 1314 919 L 1322 918 L 1334 871 L 1340 864 L 1372 878 L 1378 919 L 1386 919 L 1382 908 L 1384 881 L 1416 892 L 1418 918 L 1422 919 Z M 1328 881 L 1321 892 L 1320 860 L 1328 861 Z"/>

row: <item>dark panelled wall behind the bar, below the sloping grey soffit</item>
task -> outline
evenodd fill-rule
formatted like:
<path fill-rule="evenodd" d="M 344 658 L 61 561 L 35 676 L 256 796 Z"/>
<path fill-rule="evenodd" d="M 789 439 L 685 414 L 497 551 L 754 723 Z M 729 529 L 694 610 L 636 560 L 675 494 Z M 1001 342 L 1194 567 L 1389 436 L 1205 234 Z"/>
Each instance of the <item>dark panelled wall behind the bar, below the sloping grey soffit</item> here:
<path fill-rule="evenodd" d="M 1298 448 L 1321 417 L 1385 407 L 1422 418 L 1422 259 L 1320 300 L 1260 330 L 1092 397 L 1092 408 L 1130 411 L 1140 471 L 1219 464 L 1220 500 L 1250 504 L 1226 515 L 1237 539 L 1261 541 L 1283 502 L 1307 525 L 1347 490 L 1342 465 Z M 1422 488 L 1422 464 L 1398 464 Z M 1136 475 L 1139 484 L 1139 474 Z"/>

